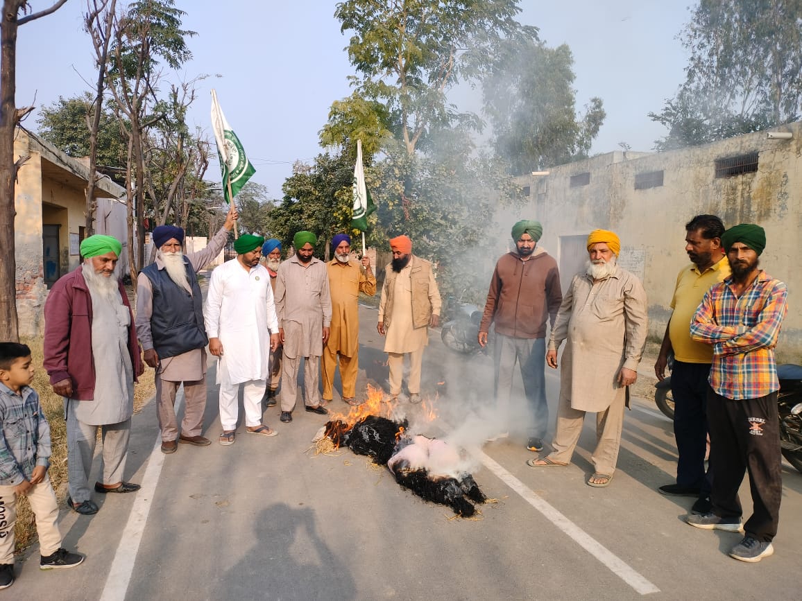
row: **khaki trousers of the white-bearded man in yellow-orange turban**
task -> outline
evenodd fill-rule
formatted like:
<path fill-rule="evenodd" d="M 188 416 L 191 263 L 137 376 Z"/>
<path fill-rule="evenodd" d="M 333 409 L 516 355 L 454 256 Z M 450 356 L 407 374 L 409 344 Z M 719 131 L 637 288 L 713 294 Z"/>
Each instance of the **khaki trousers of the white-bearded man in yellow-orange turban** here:
<path fill-rule="evenodd" d="M 596 413 L 596 449 L 590 460 L 599 474 L 613 475 L 618 462 L 618 449 L 621 447 L 621 431 L 624 423 L 625 389 L 619 389 L 613 403 L 605 410 Z M 570 463 L 573 450 L 582 434 L 585 411 L 571 408 L 571 400 L 560 395 L 557 407 L 557 432 L 554 433 L 554 450 L 549 459 L 557 463 Z"/>

